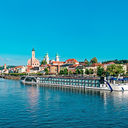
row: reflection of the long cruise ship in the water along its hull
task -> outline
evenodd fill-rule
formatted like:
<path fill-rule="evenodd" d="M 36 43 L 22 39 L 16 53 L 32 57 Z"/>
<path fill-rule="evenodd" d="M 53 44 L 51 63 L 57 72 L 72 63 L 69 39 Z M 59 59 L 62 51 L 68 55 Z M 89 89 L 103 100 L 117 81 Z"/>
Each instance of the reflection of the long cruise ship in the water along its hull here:
<path fill-rule="evenodd" d="M 78 89 L 72 89 L 72 88 L 59 88 L 59 87 L 45 87 L 45 86 L 40 86 L 40 89 L 45 90 L 45 99 L 48 101 L 51 98 L 51 91 L 53 93 L 56 93 L 56 100 L 60 99 L 60 95 L 57 93 L 58 91 L 67 93 L 67 94 L 79 94 L 79 95 L 85 95 L 85 96 L 93 96 L 99 97 L 102 99 L 104 103 L 104 107 L 111 102 L 115 107 L 119 106 L 119 103 L 121 102 L 127 102 L 128 99 L 128 91 L 125 92 L 117 92 L 117 91 L 103 91 L 103 90 L 78 90 Z M 48 91 L 50 90 L 50 91 Z"/>

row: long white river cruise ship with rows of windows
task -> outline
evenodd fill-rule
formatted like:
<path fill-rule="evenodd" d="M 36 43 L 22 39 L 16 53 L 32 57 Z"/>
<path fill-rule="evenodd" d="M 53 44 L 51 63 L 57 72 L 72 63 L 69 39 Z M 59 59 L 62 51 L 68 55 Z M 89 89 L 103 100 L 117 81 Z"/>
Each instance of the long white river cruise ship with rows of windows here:
<path fill-rule="evenodd" d="M 21 82 L 23 84 L 49 85 L 58 87 L 128 91 L 127 80 L 106 80 L 103 77 L 25 76 L 21 77 Z"/>

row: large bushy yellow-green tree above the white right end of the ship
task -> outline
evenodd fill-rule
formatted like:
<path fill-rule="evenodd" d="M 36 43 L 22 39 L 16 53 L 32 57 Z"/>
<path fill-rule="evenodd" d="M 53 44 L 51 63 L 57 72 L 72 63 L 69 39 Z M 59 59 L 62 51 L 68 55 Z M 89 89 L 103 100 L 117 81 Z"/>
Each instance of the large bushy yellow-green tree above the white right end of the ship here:
<path fill-rule="evenodd" d="M 123 74 L 123 66 L 120 64 L 112 64 L 107 67 L 107 73 L 111 76 L 118 76 L 119 74 Z"/>

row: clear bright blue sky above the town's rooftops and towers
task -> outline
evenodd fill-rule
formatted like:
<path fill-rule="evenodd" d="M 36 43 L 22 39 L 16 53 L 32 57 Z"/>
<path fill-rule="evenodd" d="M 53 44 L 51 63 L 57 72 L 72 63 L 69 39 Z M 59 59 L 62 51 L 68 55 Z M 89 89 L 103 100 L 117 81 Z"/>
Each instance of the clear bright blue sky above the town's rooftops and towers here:
<path fill-rule="evenodd" d="M 127 0 L 0 1 L 0 65 L 25 65 L 35 48 L 61 60 L 128 59 Z"/>

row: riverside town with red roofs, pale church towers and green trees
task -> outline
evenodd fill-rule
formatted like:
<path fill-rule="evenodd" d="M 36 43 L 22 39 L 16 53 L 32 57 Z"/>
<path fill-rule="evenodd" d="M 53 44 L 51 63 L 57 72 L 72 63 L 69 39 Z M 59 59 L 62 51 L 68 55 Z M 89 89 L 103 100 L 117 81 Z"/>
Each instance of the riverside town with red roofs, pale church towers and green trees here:
<path fill-rule="evenodd" d="M 31 58 L 27 60 L 27 65 L 11 66 L 4 64 L 0 67 L 1 74 L 11 75 L 26 75 L 29 73 L 40 75 L 94 75 L 104 76 L 111 75 L 127 75 L 128 73 L 128 60 L 113 60 L 99 63 L 96 57 L 91 60 L 85 59 L 82 62 L 74 58 L 68 58 L 65 61 L 61 61 L 58 54 L 54 60 L 51 60 L 48 53 L 44 56 L 40 62 L 36 58 L 36 52 L 33 48 L 31 51 Z"/>

